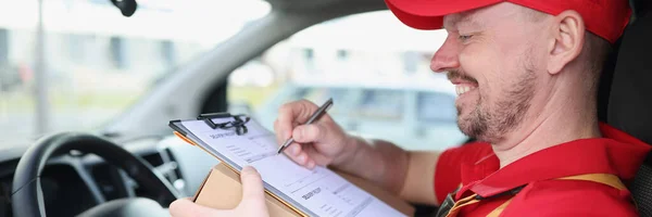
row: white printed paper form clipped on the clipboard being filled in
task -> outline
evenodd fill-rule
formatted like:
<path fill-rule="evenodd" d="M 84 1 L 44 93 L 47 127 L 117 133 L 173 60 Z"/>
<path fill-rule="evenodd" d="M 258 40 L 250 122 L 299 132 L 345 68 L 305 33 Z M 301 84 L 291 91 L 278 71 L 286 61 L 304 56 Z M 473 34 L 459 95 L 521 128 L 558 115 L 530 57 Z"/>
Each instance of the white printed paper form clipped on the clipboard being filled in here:
<path fill-rule="evenodd" d="M 214 123 L 233 118 L 215 118 Z M 334 171 L 297 165 L 284 154 L 276 154 L 274 133 L 256 122 L 247 124 L 249 132 L 237 136 L 234 130 L 211 129 L 202 120 L 183 122 L 184 127 L 237 167 L 251 165 L 263 181 L 316 216 L 381 217 L 404 216 L 372 194 Z"/>

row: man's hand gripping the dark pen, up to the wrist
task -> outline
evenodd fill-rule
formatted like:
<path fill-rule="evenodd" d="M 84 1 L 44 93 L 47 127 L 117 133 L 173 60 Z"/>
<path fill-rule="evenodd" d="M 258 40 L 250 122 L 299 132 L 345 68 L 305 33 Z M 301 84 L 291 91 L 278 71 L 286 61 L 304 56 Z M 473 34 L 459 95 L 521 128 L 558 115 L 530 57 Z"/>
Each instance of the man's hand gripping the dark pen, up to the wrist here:
<path fill-rule="evenodd" d="M 294 143 L 284 152 L 297 164 L 313 168 L 315 165 L 340 164 L 351 153 L 351 138 L 344 133 L 328 114 L 311 125 L 302 125 L 318 110 L 314 103 L 301 100 L 284 104 L 274 122 L 274 130 L 279 144 L 290 137 Z M 344 152 L 346 150 L 346 152 Z"/>

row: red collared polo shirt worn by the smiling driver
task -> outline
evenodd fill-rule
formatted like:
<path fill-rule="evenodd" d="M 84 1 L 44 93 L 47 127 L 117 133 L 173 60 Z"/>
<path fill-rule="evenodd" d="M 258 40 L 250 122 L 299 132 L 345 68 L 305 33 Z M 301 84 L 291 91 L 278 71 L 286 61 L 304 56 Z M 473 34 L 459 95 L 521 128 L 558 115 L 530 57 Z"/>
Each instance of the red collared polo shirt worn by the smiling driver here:
<path fill-rule="evenodd" d="M 634 178 L 652 146 L 606 124 L 604 138 L 580 139 L 525 156 L 502 169 L 488 143 L 443 152 L 437 163 L 435 191 L 442 202 L 460 183 L 455 201 L 477 193 L 489 197 L 525 186 L 501 216 L 637 216 L 627 190 L 582 180 L 556 178 L 613 174 L 625 183 Z M 462 207 L 460 216 L 486 216 L 512 196 L 498 196 Z"/>

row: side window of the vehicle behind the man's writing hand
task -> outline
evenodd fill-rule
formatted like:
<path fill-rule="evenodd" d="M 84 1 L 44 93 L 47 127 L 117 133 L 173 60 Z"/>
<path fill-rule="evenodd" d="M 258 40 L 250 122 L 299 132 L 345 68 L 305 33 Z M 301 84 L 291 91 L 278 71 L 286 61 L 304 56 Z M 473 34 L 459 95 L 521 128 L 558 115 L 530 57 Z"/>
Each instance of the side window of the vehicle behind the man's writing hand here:
<path fill-rule="evenodd" d="M 274 79 L 265 85 L 229 82 L 230 106 L 250 107 L 273 130 L 284 103 L 305 99 L 322 104 L 334 98 L 329 114 L 350 133 L 408 150 L 459 145 L 466 137 L 455 123 L 454 87 L 429 68 L 446 37 L 443 30 L 409 28 L 389 11 L 324 22 L 231 74 L 230 79 L 254 80 L 261 73 L 246 68 L 263 64 Z"/>

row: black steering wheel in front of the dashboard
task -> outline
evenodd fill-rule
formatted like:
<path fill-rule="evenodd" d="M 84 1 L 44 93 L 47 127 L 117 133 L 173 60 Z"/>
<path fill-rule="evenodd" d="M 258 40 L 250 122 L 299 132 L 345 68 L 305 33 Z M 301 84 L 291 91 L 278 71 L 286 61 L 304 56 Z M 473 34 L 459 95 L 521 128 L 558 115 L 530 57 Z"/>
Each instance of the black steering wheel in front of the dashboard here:
<path fill-rule="evenodd" d="M 117 144 L 99 138 L 97 136 L 76 132 L 63 132 L 45 137 L 32 145 L 21 157 L 16 167 L 12 183 L 12 208 L 16 217 L 40 217 L 46 216 L 46 207 L 40 186 L 40 175 L 48 159 L 53 156 L 70 153 L 76 150 L 82 153 L 92 153 L 102 157 L 106 163 L 122 168 L 135 179 L 146 191 L 155 195 L 159 203 L 166 203 L 179 197 L 178 192 L 163 176 L 142 158 L 133 155 Z M 149 199 L 123 199 L 106 202 L 95 206 L 85 215 L 115 215 L 134 213 L 136 206 L 156 205 L 159 203 Z M 125 210 L 128 209 L 128 210 Z M 140 208 L 146 209 L 148 208 Z M 136 212 L 137 213 L 137 212 Z M 131 214 L 143 216 L 147 213 Z M 151 214 L 151 213 L 149 213 Z M 151 216 L 151 215 L 147 215 Z"/>

